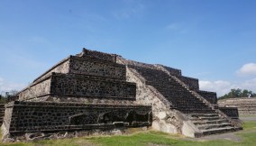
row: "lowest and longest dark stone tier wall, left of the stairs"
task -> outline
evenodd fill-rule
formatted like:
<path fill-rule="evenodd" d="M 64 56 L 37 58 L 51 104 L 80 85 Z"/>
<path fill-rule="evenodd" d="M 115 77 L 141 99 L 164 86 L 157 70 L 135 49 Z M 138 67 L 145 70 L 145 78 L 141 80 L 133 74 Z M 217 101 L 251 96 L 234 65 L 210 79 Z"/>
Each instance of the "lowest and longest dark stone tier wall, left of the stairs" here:
<path fill-rule="evenodd" d="M 12 102 L 6 105 L 9 132 L 69 131 L 151 125 L 151 106 Z M 9 115 L 9 116 L 8 116 Z M 10 128 L 8 128 L 10 126 Z M 109 127 L 110 126 L 110 127 Z"/>

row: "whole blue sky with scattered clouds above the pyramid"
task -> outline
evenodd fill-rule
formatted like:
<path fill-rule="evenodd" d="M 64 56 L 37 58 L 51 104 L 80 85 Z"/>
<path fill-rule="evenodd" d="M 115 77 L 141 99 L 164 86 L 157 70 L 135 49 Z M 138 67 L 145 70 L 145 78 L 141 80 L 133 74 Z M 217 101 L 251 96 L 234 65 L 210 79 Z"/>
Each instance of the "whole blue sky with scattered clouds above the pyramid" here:
<path fill-rule="evenodd" d="M 0 0 L 0 92 L 82 48 L 182 69 L 218 96 L 256 92 L 254 0 Z"/>

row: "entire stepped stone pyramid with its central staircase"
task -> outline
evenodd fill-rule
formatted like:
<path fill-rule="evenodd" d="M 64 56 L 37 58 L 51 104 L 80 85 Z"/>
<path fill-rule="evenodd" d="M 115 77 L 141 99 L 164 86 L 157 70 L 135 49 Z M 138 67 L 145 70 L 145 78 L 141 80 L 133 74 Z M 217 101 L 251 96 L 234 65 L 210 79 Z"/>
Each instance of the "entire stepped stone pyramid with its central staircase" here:
<path fill-rule="evenodd" d="M 162 65 L 84 49 L 36 78 L 5 105 L 4 141 L 149 127 L 189 137 L 241 129 L 197 78 Z"/>

